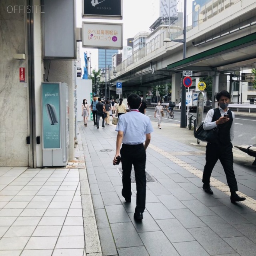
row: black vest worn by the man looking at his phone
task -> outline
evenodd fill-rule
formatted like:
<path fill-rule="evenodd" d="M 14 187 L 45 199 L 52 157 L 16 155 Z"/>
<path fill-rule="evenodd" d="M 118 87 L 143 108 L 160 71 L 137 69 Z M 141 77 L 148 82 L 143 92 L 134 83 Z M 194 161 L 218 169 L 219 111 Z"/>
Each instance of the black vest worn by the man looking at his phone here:
<path fill-rule="evenodd" d="M 212 122 L 218 120 L 221 117 L 219 108 L 215 108 L 215 113 L 212 117 Z M 233 116 L 231 110 L 228 110 L 229 121 L 224 124 L 218 125 L 218 141 L 220 144 L 230 143 L 230 128 L 233 122 Z"/>

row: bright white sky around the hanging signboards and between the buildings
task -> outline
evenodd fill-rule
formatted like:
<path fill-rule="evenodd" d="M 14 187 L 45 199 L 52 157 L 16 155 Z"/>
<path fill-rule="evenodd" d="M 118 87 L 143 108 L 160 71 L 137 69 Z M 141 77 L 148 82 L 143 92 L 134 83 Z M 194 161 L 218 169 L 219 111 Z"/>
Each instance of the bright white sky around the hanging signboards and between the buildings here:
<path fill-rule="evenodd" d="M 182 11 L 184 1 L 177 0 L 177 2 L 178 11 L 180 12 Z M 187 0 L 187 6 L 188 14 L 191 12 L 189 10 L 192 8 L 192 0 Z M 149 27 L 159 17 L 159 8 L 160 0 L 123 0 L 122 20 L 82 19 L 82 0 L 76 0 L 76 26 L 82 27 L 82 21 L 123 23 L 123 45 L 126 46 L 127 38 L 134 37 L 138 32 L 150 32 Z M 84 52 L 87 52 L 88 56 L 91 52 L 92 70 L 98 70 L 98 49 L 82 48 L 82 43 L 80 43 L 80 46 L 82 74 L 84 72 Z"/>

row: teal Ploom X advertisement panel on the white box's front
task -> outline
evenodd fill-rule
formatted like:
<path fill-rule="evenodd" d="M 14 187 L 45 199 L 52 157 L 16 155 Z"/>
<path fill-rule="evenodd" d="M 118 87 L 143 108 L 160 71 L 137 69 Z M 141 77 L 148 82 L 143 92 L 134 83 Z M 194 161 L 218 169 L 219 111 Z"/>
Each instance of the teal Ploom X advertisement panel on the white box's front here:
<path fill-rule="evenodd" d="M 43 149 L 60 148 L 60 83 L 42 83 Z"/>

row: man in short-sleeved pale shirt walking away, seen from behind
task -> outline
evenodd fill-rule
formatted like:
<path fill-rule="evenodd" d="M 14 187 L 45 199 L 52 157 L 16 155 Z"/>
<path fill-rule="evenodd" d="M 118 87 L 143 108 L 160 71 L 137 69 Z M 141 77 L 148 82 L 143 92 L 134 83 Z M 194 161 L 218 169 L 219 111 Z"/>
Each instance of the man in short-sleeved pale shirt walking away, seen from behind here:
<path fill-rule="evenodd" d="M 137 190 L 134 219 L 142 220 L 146 204 L 146 148 L 150 143 L 153 128 L 150 118 L 138 110 L 141 105 L 140 97 L 137 94 L 131 94 L 128 96 L 127 102 L 130 111 L 119 116 L 116 126 L 118 134 L 113 164 L 116 164 L 116 157 L 120 152 L 123 170 L 122 196 L 126 202 L 131 202 L 131 171 L 132 165 L 134 166 Z"/>

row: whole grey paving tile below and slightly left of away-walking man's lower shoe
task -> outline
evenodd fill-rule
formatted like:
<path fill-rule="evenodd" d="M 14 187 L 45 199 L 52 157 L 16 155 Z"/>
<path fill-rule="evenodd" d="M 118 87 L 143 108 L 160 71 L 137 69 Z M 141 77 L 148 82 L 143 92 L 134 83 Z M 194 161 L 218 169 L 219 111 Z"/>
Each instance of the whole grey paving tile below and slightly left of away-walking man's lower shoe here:
<path fill-rule="evenodd" d="M 132 222 L 110 224 L 117 248 L 143 246 Z"/>

